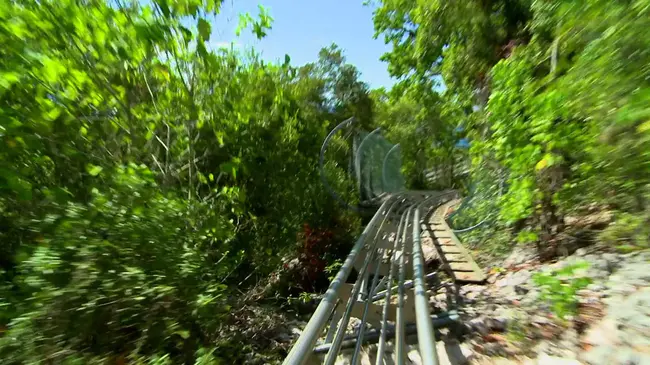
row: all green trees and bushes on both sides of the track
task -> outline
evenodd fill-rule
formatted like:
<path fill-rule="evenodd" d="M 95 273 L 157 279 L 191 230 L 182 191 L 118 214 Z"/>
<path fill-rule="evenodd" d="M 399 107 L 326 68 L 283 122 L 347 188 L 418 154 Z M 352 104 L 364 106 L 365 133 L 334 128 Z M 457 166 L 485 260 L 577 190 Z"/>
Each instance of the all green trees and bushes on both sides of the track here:
<path fill-rule="evenodd" d="M 555 250 L 595 206 L 604 242 L 648 247 L 650 1 L 378 1 L 390 90 L 336 45 L 211 49 L 220 5 L 0 0 L 3 364 L 241 363 L 246 291 L 294 257 L 290 295 L 322 290 L 359 232 L 318 171 L 349 117 L 401 144 L 410 188 L 499 190 L 459 218 L 483 235 Z M 238 32 L 271 27 L 260 7 Z"/>

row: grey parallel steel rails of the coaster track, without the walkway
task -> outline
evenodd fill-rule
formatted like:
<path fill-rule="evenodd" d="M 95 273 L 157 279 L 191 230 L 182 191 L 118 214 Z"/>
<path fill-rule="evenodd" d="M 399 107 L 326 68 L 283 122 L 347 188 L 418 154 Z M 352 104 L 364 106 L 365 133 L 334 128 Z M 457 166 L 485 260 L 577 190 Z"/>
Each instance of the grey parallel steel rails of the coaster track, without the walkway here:
<path fill-rule="evenodd" d="M 317 340 L 322 335 L 322 329 L 331 319 L 328 334 L 325 337 L 326 343 L 321 344 L 319 348 L 326 348 L 324 364 L 333 364 L 339 355 L 342 343 L 345 338 L 345 332 L 349 323 L 353 307 L 363 305 L 363 314 L 361 324 L 355 341 L 355 349 L 352 354 L 352 364 L 357 364 L 360 359 L 360 350 L 364 343 L 365 323 L 368 316 L 368 309 L 372 302 L 385 297 L 383 304 L 381 329 L 378 333 L 379 347 L 377 351 L 377 364 L 383 360 L 386 337 L 388 331 L 387 318 L 390 301 L 393 294 L 393 278 L 395 270 L 398 270 L 397 284 L 397 307 L 395 323 L 395 355 L 396 364 L 403 364 L 406 360 L 406 323 L 404 320 L 405 294 L 406 294 L 406 258 L 410 253 L 410 263 L 413 271 L 413 299 L 415 302 L 415 318 L 418 336 L 420 356 L 423 364 L 436 365 L 437 354 L 435 350 L 435 337 L 433 331 L 432 317 L 429 313 L 428 296 L 426 293 L 426 279 L 424 269 L 424 257 L 422 253 L 422 243 L 420 240 L 421 217 L 427 215 L 429 211 L 457 197 L 455 191 L 449 192 L 403 192 L 391 195 L 384 201 L 377 213 L 373 216 L 370 223 L 365 227 L 363 233 L 357 240 L 343 263 L 340 271 L 332 281 L 329 289 L 325 293 L 320 304 L 316 308 L 313 316 L 307 323 L 298 341 L 289 352 L 284 364 L 305 364 L 313 355 L 314 347 Z M 426 210 L 423 215 L 423 210 Z M 392 249 L 379 248 L 378 244 L 382 237 L 386 237 L 391 232 L 383 231 L 383 227 L 389 220 L 396 220 L 399 217 L 397 234 L 394 239 Z M 410 231 L 410 237 L 409 237 Z M 374 233 L 374 235 L 373 235 Z M 401 236 L 401 237 L 400 237 Z M 410 243 L 410 245 L 408 245 Z M 390 251 L 389 251 L 390 250 Z M 385 286 L 383 293 L 368 295 L 363 301 L 358 301 L 362 285 L 368 283 L 370 274 L 370 264 L 374 264 L 375 270 L 372 277 L 369 294 L 377 292 L 380 288 L 379 268 L 382 264 L 384 253 L 388 252 L 389 274 L 388 280 L 382 281 Z M 365 256 L 364 256 L 365 254 Z M 347 280 L 355 262 L 363 259 L 363 264 L 358 270 L 357 280 L 351 290 L 351 295 L 347 303 L 338 303 L 341 297 L 343 283 Z M 345 305 L 345 311 L 342 317 L 336 315 L 336 305 Z M 333 332 L 334 331 L 334 332 Z M 334 333 L 332 335 L 332 333 Z M 323 351 L 323 350 L 320 350 Z M 319 351 L 319 352 L 320 352 Z"/>

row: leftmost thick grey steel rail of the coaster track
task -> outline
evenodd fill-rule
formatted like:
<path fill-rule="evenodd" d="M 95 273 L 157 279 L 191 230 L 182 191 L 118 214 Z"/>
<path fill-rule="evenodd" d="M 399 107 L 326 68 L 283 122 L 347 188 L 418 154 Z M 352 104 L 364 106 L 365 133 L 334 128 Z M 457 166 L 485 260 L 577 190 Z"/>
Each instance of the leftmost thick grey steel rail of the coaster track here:
<path fill-rule="evenodd" d="M 306 363 L 309 356 L 311 356 L 314 344 L 316 343 L 316 340 L 318 340 L 320 331 L 327 319 L 330 317 L 330 314 L 332 313 L 332 310 L 338 301 L 338 293 L 341 290 L 343 283 L 345 283 L 348 276 L 350 275 L 350 272 L 354 267 L 354 262 L 363 249 L 366 236 L 374 229 L 382 214 L 387 215 L 387 207 L 390 201 L 391 199 L 387 199 L 381 205 L 377 213 L 372 217 L 368 225 L 366 225 L 364 228 L 363 232 L 357 239 L 357 242 L 354 244 L 354 247 L 352 247 L 350 254 L 341 266 L 341 269 L 336 274 L 336 277 L 334 280 L 332 280 L 330 287 L 325 292 L 325 295 L 314 311 L 314 314 L 309 319 L 309 322 L 307 322 L 307 325 L 302 331 L 302 334 L 285 358 L 283 362 L 284 365 L 302 365 Z"/>

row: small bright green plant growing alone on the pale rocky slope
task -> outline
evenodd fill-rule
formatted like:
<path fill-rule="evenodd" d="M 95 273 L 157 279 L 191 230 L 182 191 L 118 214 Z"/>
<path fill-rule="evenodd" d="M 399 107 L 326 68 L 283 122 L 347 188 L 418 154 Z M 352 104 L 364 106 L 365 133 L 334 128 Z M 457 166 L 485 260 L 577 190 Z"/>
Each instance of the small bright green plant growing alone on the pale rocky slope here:
<path fill-rule="evenodd" d="M 589 268 L 589 263 L 581 261 L 550 273 L 536 273 L 533 282 L 541 289 L 542 300 L 551 304 L 551 310 L 559 318 L 566 318 L 578 310 L 576 293 L 591 283 L 591 279 L 582 276 Z"/>

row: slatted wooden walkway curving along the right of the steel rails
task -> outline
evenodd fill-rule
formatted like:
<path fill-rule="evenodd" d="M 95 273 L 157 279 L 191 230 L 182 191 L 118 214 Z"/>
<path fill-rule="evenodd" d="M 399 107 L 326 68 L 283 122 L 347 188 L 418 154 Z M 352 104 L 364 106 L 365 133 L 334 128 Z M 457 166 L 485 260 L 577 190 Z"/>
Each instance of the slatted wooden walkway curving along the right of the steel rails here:
<path fill-rule="evenodd" d="M 449 208 L 459 202 L 454 200 L 445 203 L 429 215 L 428 223 L 422 227 L 422 243 L 436 248 L 443 267 L 455 281 L 482 283 L 486 279 L 483 270 L 445 222 Z"/>

